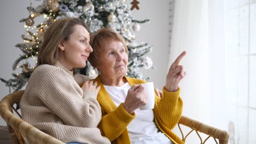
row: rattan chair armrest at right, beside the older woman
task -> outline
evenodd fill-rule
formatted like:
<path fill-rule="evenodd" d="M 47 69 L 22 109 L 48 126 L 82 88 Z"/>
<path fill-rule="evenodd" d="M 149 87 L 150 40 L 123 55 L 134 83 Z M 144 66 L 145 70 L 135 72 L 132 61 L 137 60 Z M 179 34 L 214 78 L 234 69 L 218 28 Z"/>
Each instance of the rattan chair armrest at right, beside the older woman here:
<path fill-rule="evenodd" d="M 183 135 L 183 131 L 180 127 L 180 124 L 185 125 L 189 128 L 191 128 L 192 130 L 184 137 Z M 229 140 L 229 134 L 225 131 L 225 130 L 220 130 L 214 127 L 211 127 L 209 125 L 203 124 L 199 121 L 195 121 L 194 119 L 182 116 L 179 119 L 178 122 L 178 127 L 179 130 L 181 131 L 182 134 L 182 140 L 185 142 L 185 139 L 187 138 L 187 136 L 192 132 L 192 131 L 196 131 L 196 134 L 199 136 L 201 143 L 205 143 L 210 137 L 213 137 L 213 139 L 216 141 L 216 139 L 219 140 L 219 144 L 228 144 L 228 140 Z M 202 142 L 202 139 L 199 135 L 199 132 L 208 135 L 208 137 L 205 139 L 205 141 Z M 216 141 L 216 143 L 218 143 Z"/>

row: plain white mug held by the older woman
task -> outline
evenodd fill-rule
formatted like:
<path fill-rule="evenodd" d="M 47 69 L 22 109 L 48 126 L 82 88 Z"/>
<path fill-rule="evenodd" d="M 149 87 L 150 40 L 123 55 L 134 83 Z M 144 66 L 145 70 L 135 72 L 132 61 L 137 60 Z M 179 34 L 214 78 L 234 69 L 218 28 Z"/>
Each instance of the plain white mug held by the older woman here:
<path fill-rule="evenodd" d="M 140 107 L 139 110 L 154 109 L 154 105 L 155 105 L 154 83 L 153 82 L 147 82 L 147 83 L 142 83 L 141 85 L 143 85 L 144 88 L 145 88 L 145 91 L 148 95 L 148 101 L 147 101 L 147 104 Z"/>

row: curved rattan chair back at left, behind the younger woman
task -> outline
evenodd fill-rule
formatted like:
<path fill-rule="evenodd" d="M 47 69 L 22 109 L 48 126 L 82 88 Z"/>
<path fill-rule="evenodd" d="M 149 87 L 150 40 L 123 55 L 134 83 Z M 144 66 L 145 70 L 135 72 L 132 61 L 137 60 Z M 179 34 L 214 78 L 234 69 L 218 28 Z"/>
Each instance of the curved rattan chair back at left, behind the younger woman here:
<path fill-rule="evenodd" d="M 24 91 L 11 93 L 0 102 L 0 115 L 8 125 L 9 135 L 13 142 L 15 144 L 26 144 L 27 141 L 30 141 L 29 143 L 63 143 L 21 119 L 21 115 L 13 105 L 20 101 L 23 93 Z M 13 110 L 18 113 L 18 116 L 14 115 Z"/>

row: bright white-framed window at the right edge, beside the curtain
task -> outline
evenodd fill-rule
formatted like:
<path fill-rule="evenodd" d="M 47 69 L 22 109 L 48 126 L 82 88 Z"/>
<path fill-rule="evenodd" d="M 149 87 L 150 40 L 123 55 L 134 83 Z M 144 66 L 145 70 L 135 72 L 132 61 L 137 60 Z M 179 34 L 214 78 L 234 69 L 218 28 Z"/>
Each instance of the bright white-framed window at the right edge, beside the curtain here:
<path fill-rule="evenodd" d="M 230 143 L 256 143 L 256 1 L 226 0 Z"/>

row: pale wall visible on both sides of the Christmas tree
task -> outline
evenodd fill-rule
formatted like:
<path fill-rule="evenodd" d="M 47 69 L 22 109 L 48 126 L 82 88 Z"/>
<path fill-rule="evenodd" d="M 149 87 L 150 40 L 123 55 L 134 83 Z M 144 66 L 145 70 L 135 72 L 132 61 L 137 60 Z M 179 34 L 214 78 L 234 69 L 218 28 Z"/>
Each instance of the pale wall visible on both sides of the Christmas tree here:
<path fill-rule="evenodd" d="M 28 0 L 3 0 L 0 2 L 0 77 L 4 79 L 12 77 L 11 67 L 22 53 L 15 45 L 22 43 L 21 34 L 26 34 L 24 23 L 20 23 L 19 20 L 28 17 L 29 13 L 26 8 L 30 2 L 32 2 L 32 7 L 40 3 Z M 157 68 L 157 70 L 149 69 L 142 70 L 142 72 L 144 76 L 151 77 L 150 81 L 154 82 L 155 87 L 161 89 L 165 83 L 168 64 L 168 0 L 141 0 L 139 2 L 140 9 L 133 10 L 132 15 L 138 20 L 150 18 L 152 21 L 141 25 L 141 31 L 136 32 L 136 41 L 138 43 L 148 42 L 154 46 L 149 57 L 152 58 L 154 66 Z M 9 88 L 0 82 L 0 99 L 7 94 L 9 94 Z M 0 125 L 5 125 L 2 117 Z"/>

